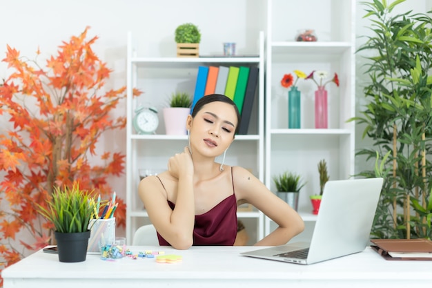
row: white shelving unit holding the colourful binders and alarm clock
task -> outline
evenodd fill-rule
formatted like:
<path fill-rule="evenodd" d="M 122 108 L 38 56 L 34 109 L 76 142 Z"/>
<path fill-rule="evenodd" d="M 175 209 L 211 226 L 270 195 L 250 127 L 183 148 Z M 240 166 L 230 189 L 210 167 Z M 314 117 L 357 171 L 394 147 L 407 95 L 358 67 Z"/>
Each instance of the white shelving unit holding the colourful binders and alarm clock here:
<path fill-rule="evenodd" d="M 227 165 L 251 169 L 264 182 L 264 32 L 257 35 L 256 57 L 139 57 L 134 49 L 132 35 L 128 35 L 127 59 L 127 144 L 126 144 L 126 237 L 131 244 L 135 230 L 148 224 L 137 187 L 139 169 L 166 169 L 168 158 L 182 151 L 186 135 L 165 135 L 162 108 L 168 106 L 168 97 L 175 90 L 193 95 L 198 66 L 257 66 L 259 83 L 253 104 L 248 135 L 236 135 L 226 153 Z M 258 42 L 259 41 L 259 42 Z M 144 91 L 132 97 L 132 88 Z M 155 135 L 138 135 L 132 127 L 137 106 L 155 106 L 159 110 L 159 127 Z M 248 231 L 251 244 L 264 237 L 264 215 L 260 211 L 239 211 Z"/>

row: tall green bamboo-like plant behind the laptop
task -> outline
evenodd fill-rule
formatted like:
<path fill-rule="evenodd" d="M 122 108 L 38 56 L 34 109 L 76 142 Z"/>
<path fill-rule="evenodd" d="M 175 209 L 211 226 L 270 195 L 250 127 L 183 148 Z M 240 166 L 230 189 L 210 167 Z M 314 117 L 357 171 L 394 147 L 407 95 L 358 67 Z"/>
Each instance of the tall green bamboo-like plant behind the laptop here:
<path fill-rule="evenodd" d="M 362 2 L 371 35 L 357 52 L 367 52 L 369 100 L 356 121 L 373 140 L 356 157 L 382 159 L 384 184 L 371 230 L 374 238 L 430 238 L 426 229 L 432 165 L 432 19 L 412 10 L 393 15 L 404 0 Z M 373 166 L 373 164 L 371 164 Z M 359 173 L 375 177 L 375 169 Z M 429 219 L 430 223 L 430 219 Z"/>

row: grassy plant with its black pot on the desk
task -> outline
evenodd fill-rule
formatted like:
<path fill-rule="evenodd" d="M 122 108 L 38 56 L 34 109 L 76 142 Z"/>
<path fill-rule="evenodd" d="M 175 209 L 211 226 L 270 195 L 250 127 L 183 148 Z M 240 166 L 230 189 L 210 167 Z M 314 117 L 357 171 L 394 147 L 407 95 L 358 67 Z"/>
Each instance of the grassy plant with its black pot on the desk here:
<path fill-rule="evenodd" d="M 88 224 L 95 213 L 95 200 L 75 183 L 72 188 L 55 187 L 46 204 L 38 204 L 39 213 L 54 226 L 59 261 L 85 261 L 90 238 Z"/>

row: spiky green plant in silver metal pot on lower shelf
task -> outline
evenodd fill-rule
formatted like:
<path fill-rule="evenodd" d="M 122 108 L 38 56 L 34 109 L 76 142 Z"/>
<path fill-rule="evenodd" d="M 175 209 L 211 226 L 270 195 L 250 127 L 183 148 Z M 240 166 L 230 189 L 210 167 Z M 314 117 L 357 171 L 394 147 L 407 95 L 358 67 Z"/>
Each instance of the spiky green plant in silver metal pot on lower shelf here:
<path fill-rule="evenodd" d="M 273 182 L 276 186 L 277 196 L 297 211 L 300 189 L 306 184 L 302 181 L 302 177 L 296 173 L 285 171 L 273 176 Z"/>

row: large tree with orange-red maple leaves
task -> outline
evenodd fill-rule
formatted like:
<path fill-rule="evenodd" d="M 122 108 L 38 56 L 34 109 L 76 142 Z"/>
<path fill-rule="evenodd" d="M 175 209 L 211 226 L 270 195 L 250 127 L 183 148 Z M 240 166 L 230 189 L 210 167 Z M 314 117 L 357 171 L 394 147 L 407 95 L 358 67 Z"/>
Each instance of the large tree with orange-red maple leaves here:
<path fill-rule="evenodd" d="M 102 133 L 126 126 L 126 117 L 110 117 L 126 97 L 126 87 L 104 89 L 111 70 L 91 48 L 98 37 L 87 40 L 87 32 L 88 28 L 63 41 L 44 67 L 7 46 L 2 61 L 12 73 L 0 84 L 0 115 L 13 128 L 0 135 L 0 173 L 5 175 L 0 201 L 3 207 L 5 201 L 9 204 L 8 210 L 0 211 L 0 268 L 23 258 L 25 249 L 34 251 L 50 242 L 52 227 L 37 213 L 35 203 L 45 204 L 54 186 L 77 180 L 81 189 L 104 199 L 113 193 L 108 177 L 124 173 L 125 155 L 97 155 L 96 148 Z M 126 205 L 117 202 L 116 222 L 124 227 Z M 17 241 L 21 232 L 34 240 Z"/>

